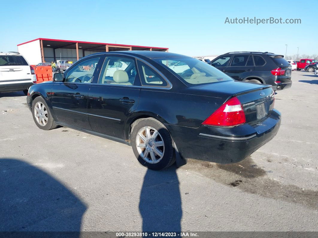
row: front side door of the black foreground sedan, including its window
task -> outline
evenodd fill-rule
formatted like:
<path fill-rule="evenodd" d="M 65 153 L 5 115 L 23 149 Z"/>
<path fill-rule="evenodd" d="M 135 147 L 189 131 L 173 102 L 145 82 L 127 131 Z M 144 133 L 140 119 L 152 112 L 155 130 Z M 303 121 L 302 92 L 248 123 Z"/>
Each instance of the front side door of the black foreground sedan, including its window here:
<path fill-rule="evenodd" d="M 87 95 L 100 59 L 100 56 L 83 59 L 66 71 L 63 82 L 54 82 L 51 103 L 59 123 L 91 129 L 87 117 Z"/>

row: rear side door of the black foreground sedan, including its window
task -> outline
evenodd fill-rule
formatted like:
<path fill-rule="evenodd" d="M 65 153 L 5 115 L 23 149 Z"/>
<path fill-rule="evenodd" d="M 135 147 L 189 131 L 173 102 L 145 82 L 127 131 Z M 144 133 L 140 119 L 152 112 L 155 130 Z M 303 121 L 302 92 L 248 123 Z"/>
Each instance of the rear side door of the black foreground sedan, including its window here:
<path fill-rule="evenodd" d="M 118 65 L 121 65 L 118 70 Z M 140 79 L 133 57 L 108 56 L 88 92 L 88 120 L 93 131 L 124 139 L 124 123 L 136 110 Z"/>

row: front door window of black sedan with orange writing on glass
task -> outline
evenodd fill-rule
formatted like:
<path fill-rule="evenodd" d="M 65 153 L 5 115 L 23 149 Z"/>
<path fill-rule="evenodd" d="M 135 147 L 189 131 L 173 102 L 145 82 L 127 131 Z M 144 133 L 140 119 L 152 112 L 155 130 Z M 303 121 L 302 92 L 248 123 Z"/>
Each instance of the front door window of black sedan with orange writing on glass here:
<path fill-rule="evenodd" d="M 74 65 L 65 75 L 64 82 L 90 83 L 100 57 L 89 58 Z"/>

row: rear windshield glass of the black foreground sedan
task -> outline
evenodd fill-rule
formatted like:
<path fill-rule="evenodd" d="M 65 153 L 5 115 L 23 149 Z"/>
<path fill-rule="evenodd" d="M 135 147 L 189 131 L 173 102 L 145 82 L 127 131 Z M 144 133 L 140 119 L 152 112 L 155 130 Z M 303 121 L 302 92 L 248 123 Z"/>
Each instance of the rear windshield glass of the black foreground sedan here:
<path fill-rule="evenodd" d="M 178 74 L 186 83 L 191 85 L 233 81 L 232 78 L 217 68 L 195 58 L 158 58 L 154 60 Z"/>

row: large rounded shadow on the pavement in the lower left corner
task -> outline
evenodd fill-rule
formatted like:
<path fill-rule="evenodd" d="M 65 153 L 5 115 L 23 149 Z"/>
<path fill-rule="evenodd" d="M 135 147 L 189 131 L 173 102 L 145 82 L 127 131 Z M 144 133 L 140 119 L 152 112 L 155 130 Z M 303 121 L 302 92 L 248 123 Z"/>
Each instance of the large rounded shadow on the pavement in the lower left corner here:
<path fill-rule="evenodd" d="M 0 231 L 80 231 L 86 206 L 37 167 L 0 159 L 0 191 Z"/>

